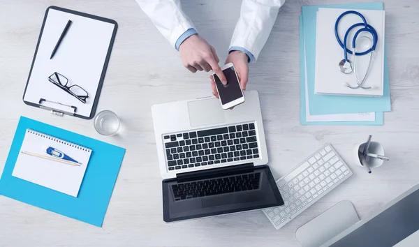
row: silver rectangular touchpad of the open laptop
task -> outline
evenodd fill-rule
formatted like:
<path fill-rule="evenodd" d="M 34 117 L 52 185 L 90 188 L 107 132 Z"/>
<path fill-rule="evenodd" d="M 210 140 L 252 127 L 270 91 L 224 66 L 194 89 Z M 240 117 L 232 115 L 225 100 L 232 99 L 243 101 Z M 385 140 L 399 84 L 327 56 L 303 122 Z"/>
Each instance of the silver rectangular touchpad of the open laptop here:
<path fill-rule="evenodd" d="M 188 103 L 188 110 L 191 127 L 226 121 L 224 110 L 221 108 L 220 101 L 216 98 L 191 101 Z"/>

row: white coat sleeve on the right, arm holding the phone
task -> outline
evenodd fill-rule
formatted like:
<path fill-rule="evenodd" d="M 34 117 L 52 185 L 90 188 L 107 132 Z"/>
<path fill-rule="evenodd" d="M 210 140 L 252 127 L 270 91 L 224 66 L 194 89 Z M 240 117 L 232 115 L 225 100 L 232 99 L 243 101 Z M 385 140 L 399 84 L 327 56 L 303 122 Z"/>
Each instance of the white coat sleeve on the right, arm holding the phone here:
<path fill-rule="evenodd" d="M 243 0 L 230 47 L 243 47 L 256 61 L 284 3 L 285 0 Z"/>

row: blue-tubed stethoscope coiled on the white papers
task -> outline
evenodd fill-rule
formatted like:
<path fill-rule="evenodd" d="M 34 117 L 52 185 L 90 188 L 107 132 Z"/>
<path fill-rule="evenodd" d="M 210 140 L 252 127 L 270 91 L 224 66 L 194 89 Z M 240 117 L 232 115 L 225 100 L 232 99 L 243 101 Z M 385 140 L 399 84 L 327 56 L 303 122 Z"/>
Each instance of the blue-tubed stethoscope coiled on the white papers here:
<path fill-rule="evenodd" d="M 342 17 L 344 17 L 345 15 L 348 14 L 355 14 L 358 15 L 359 17 L 361 17 L 363 23 L 357 23 L 357 24 L 353 24 L 345 33 L 345 37 L 344 37 L 344 43 L 341 42 L 340 38 L 339 38 L 339 33 L 337 33 L 337 27 L 339 26 L 339 21 L 341 20 Z M 352 40 L 352 52 L 351 50 L 348 50 L 348 48 L 346 48 L 346 40 L 348 38 L 348 34 L 349 32 L 354 28 L 354 27 L 358 27 L 358 26 L 364 26 L 362 27 L 362 29 L 359 29 L 358 31 L 356 31 L 355 36 L 353 36 L 353 40 Z M 372 46 L 366 50 L 365 52 L 355 52 L 355 46 L 356 46 L 356 41 L 358 38 L 358 35 L 362 32 L 362 31 L 367 31 L 369 33 L 371 33 L 373 40 L 371 40 L 371 38 L 367 37 L 367 36 L 362 36 L 361 38 L 367 38 L 369 40 L 370 43 L 372 43 Z M 365 20 L 364 15 L 362 15 L 361 13 L 354 11 L 354 10 L 348 10 L 344 13 L 342 13 L 341 15 L 339 15 L 339 17 L 336 20 L 335 23 L 335 36 L 336 36 L 336 40 L 337 43 L 339 43 L 339 45 L 342 47 L 342 49 L 344 49 L 344 59 L 341 60 L 339 62 L 339 70 L 341 70 L 341 73 L 344 74 L 349 74 L 353 71 L 353 73 L 355 74 L 355 80 L 357 85 L 355 87 L 351 86 L 350 84 L 346 83 L 346 87 L 349 87 L 351 89 L 372 89 L 372 87 L 363 87 L 362 85 L 365 83 L 365 79 L 367 78 L 367 75 L 369 73 L 369 67 L 372 64 L 372 54 L 374 53 L 374 51 L 376 50 L 376 46 L 377 46 L 377 42 L 378 42 L 378 38 L 377 38 L 377 32 L 375 31 L 374 27 L 372 27 L 371 25 L 367 24 L 367 20 Z M 358 39 L 358 40 L 359 40 Z M 352 54 L 353 56 L 353 62 L 351 60 L 348 59 L 348 52 Z M 356 56 L 363 56 L 365 54 L 369 53 L 369 63 L 368 63 L 368 67 L 367 67 L 367 72 L 365 73 L 364 78 L 362 78 L 362 81 L 360 82 L 358 80 L 358 75 L 356 72 L 356 64 L 355 64 L 355 60 L 356 60 Z"/>

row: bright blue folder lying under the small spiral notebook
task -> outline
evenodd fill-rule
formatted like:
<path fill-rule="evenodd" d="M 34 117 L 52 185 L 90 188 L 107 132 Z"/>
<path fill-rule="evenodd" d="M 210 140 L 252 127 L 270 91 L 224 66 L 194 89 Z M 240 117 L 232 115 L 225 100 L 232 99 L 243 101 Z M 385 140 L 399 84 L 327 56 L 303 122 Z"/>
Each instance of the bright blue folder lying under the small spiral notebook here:
<path fill-rule="evenodd" d="M 59 193 L 12 176 L 27 128 L 92 150 L 78 197 Z M 125 149 L 121 147 L 20 117 L 1 175 L 0 195 L 101 227 L 124 154 Z"/>

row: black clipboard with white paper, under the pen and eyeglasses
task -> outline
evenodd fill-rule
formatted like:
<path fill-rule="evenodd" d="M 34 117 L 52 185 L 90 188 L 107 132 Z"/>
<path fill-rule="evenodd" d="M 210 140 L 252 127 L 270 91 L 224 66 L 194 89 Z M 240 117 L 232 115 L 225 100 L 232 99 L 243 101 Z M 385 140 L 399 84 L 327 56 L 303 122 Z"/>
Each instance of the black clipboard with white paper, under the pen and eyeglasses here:
<path fill-rule="evenodd" d="M 66 36 L 52 59 L 50 55 L 68 20 Z M 108 68 L 118 24 L 115 20 L 75 10 L 50 6 L 45 11 L 41 32 L 23 93 L 27 105 L 64 114 L 92 119 Z M 48 81 L 53 73 L 68 78 L 89 93 L 86 103 Z"/>

